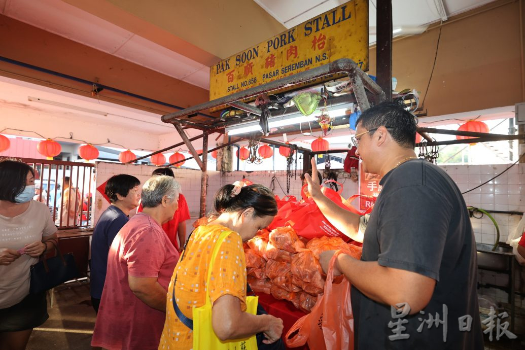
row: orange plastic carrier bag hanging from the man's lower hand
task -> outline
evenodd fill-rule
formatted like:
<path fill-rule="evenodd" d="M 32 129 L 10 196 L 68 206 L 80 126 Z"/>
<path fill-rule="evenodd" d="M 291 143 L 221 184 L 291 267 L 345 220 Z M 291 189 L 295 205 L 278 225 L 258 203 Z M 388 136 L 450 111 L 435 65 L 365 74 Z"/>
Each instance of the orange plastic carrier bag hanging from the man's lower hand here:
<path fill-rule="evenodd" d="M 328 268 L 324 294 L 319 296 L 311 313 L 301 317 L 286 334 L 288 347 L 303 346 L 310 349 L 350 349 L 354 346 L 354 319 L 350 302 L 350 282 L 344 279 L 332 284 L 333 266 L 337 251 Z M 324 317 L 323 317 L 324 315 Z"/>

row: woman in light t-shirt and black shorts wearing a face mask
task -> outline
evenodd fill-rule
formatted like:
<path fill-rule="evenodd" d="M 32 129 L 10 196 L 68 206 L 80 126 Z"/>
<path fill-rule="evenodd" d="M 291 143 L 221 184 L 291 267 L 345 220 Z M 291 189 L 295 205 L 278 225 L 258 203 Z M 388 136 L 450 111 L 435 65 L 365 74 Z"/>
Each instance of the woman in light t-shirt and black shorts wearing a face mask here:
<path fill-rule="evenodd" d="M 33 168 L 0 160 L 0 348 L 25 349 L 49 317 L 45 292 L 29 294 L 29 269 L 54 248 L 57 228 L 34 196 Z"/>

